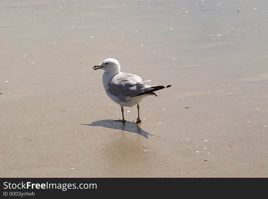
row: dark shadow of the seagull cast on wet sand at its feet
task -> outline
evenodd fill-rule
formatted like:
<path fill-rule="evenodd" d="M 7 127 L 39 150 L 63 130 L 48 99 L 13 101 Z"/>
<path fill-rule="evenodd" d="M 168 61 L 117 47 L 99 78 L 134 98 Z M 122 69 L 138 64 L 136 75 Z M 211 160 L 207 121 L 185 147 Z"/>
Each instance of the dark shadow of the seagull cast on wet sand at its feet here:
<path fill-rule="evenodd" d="M 128 122 L 128 121 L 123 123 L 123 122 L 118 122 L 118 121 L 111 120 L 111 119 L 106 119 L 106 120 L 95 121 L 95 122 L 92 122 L 91 124 L 81 124 L 81 125 L 103 126 L 103 127 L 110 128 L 110 129 L 118 129 L 118 130 L 138 133 L 139 135 L 146 137 L 146 138 L 148 138 L 148 135 L 154 136 L 146 131 L 143 131 L 139 127 L 139 124 L 136 124 L 134 122 Z"/>

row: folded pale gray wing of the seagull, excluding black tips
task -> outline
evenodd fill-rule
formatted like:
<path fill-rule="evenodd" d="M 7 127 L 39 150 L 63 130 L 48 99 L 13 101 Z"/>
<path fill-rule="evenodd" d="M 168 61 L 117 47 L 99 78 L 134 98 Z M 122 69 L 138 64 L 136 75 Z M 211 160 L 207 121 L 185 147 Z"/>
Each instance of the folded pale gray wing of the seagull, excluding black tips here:
<path fill-rule="evenodd" d="M 142 81 L 142 79 L 134 74 L 121 73 L 115 75 L 111 83 L 108 84 L 109 92 L 115 96 L 118 96 L 122 101 L 128 101 L 130 97 L 136 96 L 139 93 L 151 90 L 150 86 L 144 83 L 150 81 Z"/>

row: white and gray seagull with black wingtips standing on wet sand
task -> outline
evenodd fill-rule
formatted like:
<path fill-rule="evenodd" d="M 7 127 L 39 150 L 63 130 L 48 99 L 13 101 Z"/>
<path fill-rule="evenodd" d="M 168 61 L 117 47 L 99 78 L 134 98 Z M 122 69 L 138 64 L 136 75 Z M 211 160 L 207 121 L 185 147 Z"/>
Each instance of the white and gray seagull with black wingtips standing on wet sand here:
<path fill-rule="evenodd" d="M 139 103 L 143 98 L 157 94 L 154 91 L 161 90 L 168 86 L 150 86 L 147 85 L 151 80 L 142 81 L 141 77 L 131 74 L 120 72 L 120 64 L 116 59 L 108 58 L 92 68 L 93 70 L 102 69 L 104 73 L 102 75 L 102 82 L 106 94 L 115 103 L 121 106 L 122 120 L 116 120 L 120 122 L 126 122 L 124 118 L 124 106 L 133 107 L 137 105 L 138 118 L 136 123 L 140 123 L 139 117 Z"/>

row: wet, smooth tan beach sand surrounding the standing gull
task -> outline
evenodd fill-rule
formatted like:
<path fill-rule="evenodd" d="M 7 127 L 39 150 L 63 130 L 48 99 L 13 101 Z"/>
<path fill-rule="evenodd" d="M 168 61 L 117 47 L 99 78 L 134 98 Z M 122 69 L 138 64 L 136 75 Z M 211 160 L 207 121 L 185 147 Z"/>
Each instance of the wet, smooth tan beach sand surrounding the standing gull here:
<path fill-rule="evenodd" d="M 266 8 L 2 1 L 0 177 L 268 177 Z M 172 85 L 140 103 L 138 126 L 136 107 L 114 121 L 92 70 L 106 58 Z"/>

